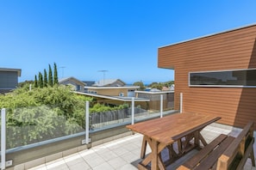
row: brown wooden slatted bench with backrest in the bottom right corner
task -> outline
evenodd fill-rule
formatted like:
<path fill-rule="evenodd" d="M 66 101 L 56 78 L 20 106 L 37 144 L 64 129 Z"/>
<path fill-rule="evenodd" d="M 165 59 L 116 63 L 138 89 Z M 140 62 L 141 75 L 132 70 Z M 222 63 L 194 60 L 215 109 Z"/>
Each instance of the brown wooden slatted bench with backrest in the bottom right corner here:
<path fill-rule="evenodd" d="M 251 159 L 255 167 L 253 143 L 253 122 L 249 122 L 238 137 L 221 134 L 185 161 L 178 170 L 243 169 L 247 158 Z"/>

